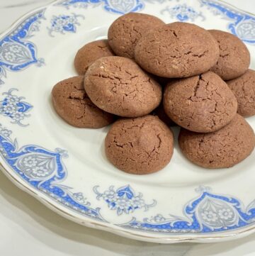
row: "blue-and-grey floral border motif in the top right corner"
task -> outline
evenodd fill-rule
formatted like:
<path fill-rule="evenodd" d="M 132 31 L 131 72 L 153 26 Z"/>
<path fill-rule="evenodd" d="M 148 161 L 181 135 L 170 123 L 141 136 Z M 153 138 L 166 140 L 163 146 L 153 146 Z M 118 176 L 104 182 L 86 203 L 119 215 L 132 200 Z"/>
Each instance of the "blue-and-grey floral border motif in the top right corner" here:
<path fill-rule="evenodd" d="M 242 11 L 229 9 L 217 1 L 200 0 L 202 6 L 208 6 L 215 15 L 222 15 L 229 20 L 227 29 L 234 35 L 237 35 L 246 43 L 255 43 L 255 17 Z"/>

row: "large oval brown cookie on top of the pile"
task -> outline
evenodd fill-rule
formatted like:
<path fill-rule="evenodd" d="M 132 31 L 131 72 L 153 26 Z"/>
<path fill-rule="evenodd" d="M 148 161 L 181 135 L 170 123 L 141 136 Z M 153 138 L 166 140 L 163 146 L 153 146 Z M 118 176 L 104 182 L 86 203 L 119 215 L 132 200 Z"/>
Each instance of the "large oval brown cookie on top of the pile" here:
<path fill-rule="evenodd" d="M 219 55 L 219 46 L 207 30 L 182 22 L 155 28 L 135 46 L 137 63 L 159 77 L 191 77 L 206 72 Z"/>

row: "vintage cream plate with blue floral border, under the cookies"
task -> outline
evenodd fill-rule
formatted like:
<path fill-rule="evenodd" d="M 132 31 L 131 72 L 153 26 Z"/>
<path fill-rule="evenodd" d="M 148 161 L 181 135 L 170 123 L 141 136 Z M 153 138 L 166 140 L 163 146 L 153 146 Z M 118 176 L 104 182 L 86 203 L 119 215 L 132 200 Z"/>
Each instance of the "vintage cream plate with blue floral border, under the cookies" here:
<path fill-rule="evenodd" d="M 0 38 L 1 169 L 62 216 L 128 238 L 215 242 L 254 232 L 255 152 L 235 167 L 208 170 L 188 162 L 176 144 L 162 171 L 130 175 L 106 160 L 108 128 L 74 128 L 52 108 L 52 86 L 76 74 L 77 50 L 105 38 L 129 11 L 234 33 L 255 67 L 255 17 L 220 1 L 55 1 Z M 254 117 L 247 121 L 255 128 Z"/>

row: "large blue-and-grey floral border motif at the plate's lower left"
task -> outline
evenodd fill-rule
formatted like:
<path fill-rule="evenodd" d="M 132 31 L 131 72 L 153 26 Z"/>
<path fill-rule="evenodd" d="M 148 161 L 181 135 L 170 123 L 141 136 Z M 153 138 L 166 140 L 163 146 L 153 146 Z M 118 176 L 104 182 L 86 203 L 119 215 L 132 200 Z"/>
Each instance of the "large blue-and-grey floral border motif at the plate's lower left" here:
<path fill-rule="evenodd" d="M 62 158 L 68 157 L 66 151 L 57 148 L 52 152 L 37 145 L 18 148 L 17 141 L 12 141 L 10 135 L 11 131 L 0 125 L 0 155 L 24 181 L 60 204 L 89 218 L 104 221 L 99 209 L 90 208 L 83 194 L 72 193 L 72 188 L 59 184 L 67 176 L 62 164 Z"/>

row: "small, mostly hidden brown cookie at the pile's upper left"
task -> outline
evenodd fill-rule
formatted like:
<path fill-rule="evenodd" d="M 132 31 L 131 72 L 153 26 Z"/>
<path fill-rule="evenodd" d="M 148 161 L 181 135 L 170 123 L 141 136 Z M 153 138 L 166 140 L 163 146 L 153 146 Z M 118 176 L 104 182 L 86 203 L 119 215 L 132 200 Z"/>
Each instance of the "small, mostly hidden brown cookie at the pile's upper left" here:
<path fill-rule="evenodd" d="M 74 58 L 74 67 L 78 74 L 85 74 L 89 65 L 91 65 L 95 60 L 98 60 L 101 57 L 113 55 L 114 53 L 108 44 L 108 40 L 96 40 L 94 42 L 87 43 L 78 50 L 77 55 Z"/>

